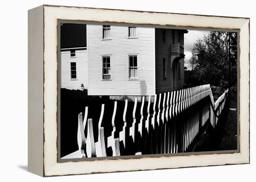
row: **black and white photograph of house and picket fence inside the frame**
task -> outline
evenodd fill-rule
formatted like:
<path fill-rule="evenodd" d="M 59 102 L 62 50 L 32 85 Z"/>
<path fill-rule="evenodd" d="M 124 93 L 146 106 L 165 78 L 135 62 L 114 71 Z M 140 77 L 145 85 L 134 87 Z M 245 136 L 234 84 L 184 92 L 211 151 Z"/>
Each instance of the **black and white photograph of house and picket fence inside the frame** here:
<path fill-rule="evenodd" d="M 237 31 L 59 31 L 61 159 L 238 150 Z"/>

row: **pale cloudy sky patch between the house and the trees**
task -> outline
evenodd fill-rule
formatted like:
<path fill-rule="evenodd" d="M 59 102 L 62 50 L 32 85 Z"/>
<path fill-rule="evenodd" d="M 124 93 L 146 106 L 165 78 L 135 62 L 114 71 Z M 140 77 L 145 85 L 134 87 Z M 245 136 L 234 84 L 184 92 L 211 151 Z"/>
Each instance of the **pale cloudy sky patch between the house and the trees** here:
<path fill-rule="evenodd" d="M 204 34 L 208 34 L 209 31 L 201 31 L 201 30 L 189 30 L 188 33 L 184 34 L 184 54 L 185 54 L 185 63 L 184 66 L 186 66 L 188 69 L 191 69 L 192 66 L 189 63 L 189 58 L 192 56 L 193 47 L 195 44 L 195 41 L 198 38 L 202 38 Z"/>

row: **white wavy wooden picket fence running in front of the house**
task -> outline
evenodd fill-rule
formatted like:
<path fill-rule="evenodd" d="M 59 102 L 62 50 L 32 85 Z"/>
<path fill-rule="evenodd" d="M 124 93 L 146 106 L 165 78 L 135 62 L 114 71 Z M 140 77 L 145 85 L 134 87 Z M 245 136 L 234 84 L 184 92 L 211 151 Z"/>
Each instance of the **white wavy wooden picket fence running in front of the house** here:
<path fill-rule="evenodd" d="M 115 126 L 118 107 L 115 101 L 110 136 L 104 135 L 104 127 L 101 126 L 105 108 L 102 104 L 97 142 L 94 139 L 93 128 L 93 122 L 97 121 L 88 119 L 88 107 L 85 107 L 84 118 L 82 113 L 78 115 L 79 150 L 62 159 L 193 151 L 191 146 L 205 123 L 209 120 L 213 127 L 216 126 L 227 95 L 228 90 L 214 102 L 208 84 L 154 96 L 149 95 L 147 101 L 143 96 L 140 108 L 137 108 L 137 98 L 135 102 L 125 100 L 121 128 Z M 128 107 L 133 107 L 133 122 L 130 126 L 126 120 Z"/>

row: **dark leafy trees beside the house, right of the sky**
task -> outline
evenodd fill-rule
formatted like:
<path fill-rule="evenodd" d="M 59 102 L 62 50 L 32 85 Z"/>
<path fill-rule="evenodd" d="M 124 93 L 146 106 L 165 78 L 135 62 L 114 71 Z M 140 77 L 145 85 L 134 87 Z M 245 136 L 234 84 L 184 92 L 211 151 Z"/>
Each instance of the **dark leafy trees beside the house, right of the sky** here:
<path fill-rule="evenodd" d="M 190 78 L 190 86 L 211 84 L 220 88 L 229 88 L 237 82 L 237 33 L 225 31 L 210 31 L 199 38 L 194 45 Z M 186 75 L 186 73 L 185 73 Z"/>

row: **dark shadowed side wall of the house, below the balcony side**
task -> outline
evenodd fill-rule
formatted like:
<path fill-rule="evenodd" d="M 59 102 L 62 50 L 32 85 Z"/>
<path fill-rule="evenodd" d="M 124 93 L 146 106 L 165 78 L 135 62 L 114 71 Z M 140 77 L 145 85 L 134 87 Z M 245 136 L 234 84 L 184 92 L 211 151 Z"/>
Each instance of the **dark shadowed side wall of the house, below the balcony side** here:
<path fill-rule="evenodd" d="M 178 32 L 175 31 L 175 44 L 178 44 Z M 156 94 L 169 92 L 172 90 L 172 72 L 171 66 L 173 61 L 173 56 L 171 57 L 171 44 L 172 41 L 172 29 L 166 29 L 165 31 L 165 41 L 162 40 L 162 29 L 155 29 L 155 90 Z M 181 32 L 181 45 L 184 44 L 183 33 Z M 176 56 L 175 56 L 176 57 Z M 162 60 L 166 58 L 166 78 L 163 77 L 163 64 Z M 181 78 L 178 77 L 177 70 L 177 88 L 181 89 L 184 83 L 184 59 L 181 62 Z"/>

